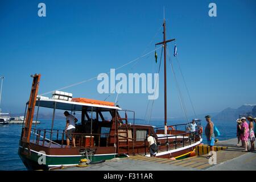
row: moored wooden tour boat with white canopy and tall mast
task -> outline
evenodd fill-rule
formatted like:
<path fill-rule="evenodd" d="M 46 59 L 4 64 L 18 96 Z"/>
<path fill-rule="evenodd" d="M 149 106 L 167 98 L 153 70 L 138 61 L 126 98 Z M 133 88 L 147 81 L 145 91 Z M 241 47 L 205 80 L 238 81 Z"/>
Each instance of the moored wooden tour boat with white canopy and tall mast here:
<path fill-rule="evenodd" d="M 40 74 L 34 75 L 18 150 L 27 169 L 73 166 L 79 164 L 84 158 L 95 163 L 138 154 L 150 156 L 146 134 L 154 135 L 159 149 L 156 154 L 158 158 L 185 158 L 195 150 L 202 141 L 200 127 L 194 132 L 188 132 L 188 123 L 167 125 L 166 43 L 174 39 L 166 40 L 165 21 L 163 27 L 164 41 L 158 44 L 164 46 L 164 126 L 136 124 L 135 111 L 124 110 L 113 102 L 86 98 L 72 98 L 65 101 L 37 97 Z M 53 109 L 51 129 L 32 128 L 36 106 L 38 109 L 39 107 Z M 56 110 L 81 113 L 81 118 L 78 118 L 80 122 L 76 125 L 76 131 L 73 134 L 76 147 L 67 147 L 63 129 L 53 130 Z M 105 117 L 106 114 L 110 117 Z M 128 114 L 132 117 L 128 117 Z M 200 120 L 196 123 L 200 126 Z M 104 132 L 103 129 L 108 132 Z M 192 139 L 192 136 L 195 138 Z"/>

